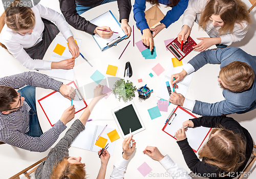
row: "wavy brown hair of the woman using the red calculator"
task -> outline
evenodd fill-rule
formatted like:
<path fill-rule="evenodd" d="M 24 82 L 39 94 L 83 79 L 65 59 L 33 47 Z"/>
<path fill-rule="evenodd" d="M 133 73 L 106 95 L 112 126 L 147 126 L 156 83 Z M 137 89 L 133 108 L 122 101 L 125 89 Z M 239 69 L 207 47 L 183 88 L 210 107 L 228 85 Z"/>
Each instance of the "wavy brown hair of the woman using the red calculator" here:
<path fill-rule="evenodd" d="M 224 21 L 224 25 L 219 29 L 220 34 L 228 31 L 233 33 L 235 23 L 240 24 L 243 29 L 243 22 L 248 24 L 252 22 L 247 6 L 241 0 L 210 0 L 199 20 L 199 25 L 204 30 L 212 14 L 220 15 Z"/>

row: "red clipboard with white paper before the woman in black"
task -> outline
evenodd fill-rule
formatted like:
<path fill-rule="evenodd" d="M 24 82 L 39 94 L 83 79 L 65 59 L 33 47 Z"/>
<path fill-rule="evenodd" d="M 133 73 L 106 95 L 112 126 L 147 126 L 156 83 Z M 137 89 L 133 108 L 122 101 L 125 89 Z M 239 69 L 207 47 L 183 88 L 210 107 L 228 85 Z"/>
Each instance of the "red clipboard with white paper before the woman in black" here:
<path fill-rule="evenodd" d="M 178 114 L 176 114 L 176 112 L 179 112 L 179 114 L 181 115 L 181 112 L 184 112 L 182 115 L 185 115 L 186 116 L 186 119 L 184 119 L 183 121 L 181 121 L 178 117 L 176 118 L 176 116 L 178 116 Z M 197 118 L 195 115 L 193 115 L 193 114 L 191 114 L 191 113 L 189 113 L 187 110 L 185 110 L 184 108 L 182 108 L 182 107 L 180 107 L 180 106 L 177 106 L 177 108 L 174 110 L 174 112 L 172 113 L 172 115 L 170 115 L 170 117 L 168 118 L 168 121 L 165 123 L 165 125 L 164 125 L 164 127 L 163 127 L 163 129 L 162 129 L 162 131 L 163 132 L 165 132 L 166 134 L 168 134 L 169 136 L 171 136 L 171 137 L 173 137 L 174 139 L 176 139 L 172 134 L 174 134 L 174 132 L 176 132 L 176 131 L 178 131 L 181 127 L 182 127 L 182 123 L 184 122 L 184 121 L 186 121 L 186 120 L 188 120 L 188 119 L 191 119 L 191 118 Z M 174 122 L 174 120 L 176 119 L 176 121 Z M 182 118 L 183 119 L 183 118 Z M 172 122 L 174 122 L 173 124 L 174 125 L 177 125 L 177 124 L 180 124 L 181 123 L 181 125 L 180 125 L 180 127 L 179 127 L 179 129 L 176 129 L 176 131 L 172 128 L 172 127 L 170 127 L 170 125 L 171 125 L 171 123 Z M 202 127 L 202 126 L 201 126 Z M 197 129 L 197 130 L 194 130 L 194 129 Z M 199 141 L 199 145 L 195 145 L 196 146 L 196 148 L 193 148 L 191 145 L 191 148 L 195 151 L 195 152 L 197 152 L 198 150 L 199 150 L 199 148 L 201 147 L 201 145 L 203 144 L 203 142 L 204 142 L 204 140 L 206 139 L 206 137 L 208 136 L 208 134 L 210 133 L 210 130 L 211 130 L 211 128 L 208 128 L 208 127 L 202 127 L 201 128 L 201 132 L 203 132 L 203 133 L 197 133 L 199 130 L 200 130 L 200 127 L 195 127 L 195 128 L 192 128 L 192 129 L 188 129 L 188 131 L 186 132 L 186 133 L 188 133 L 188 132 L 190 132 L 191 130 L 193 130 L 193 134 L 195 135 L 195 136 L 193 136 L 193 137 L 196 137 L 197 135 L 198 135 L 198 137 L 199 137 L 199 140 L 200 141 L 202 141 L 201 143 L 200 143 L 200 141 Z M 172 131 L 172 134 L 169 134 L 169 132 L 170 131 Z M 191 133 L 190 133 L 191 134 Z M 203 136 L 202 136 L 203 135 Z M 205 135 L 205 136 L 204 136 Z M 187 136 L 187 139 L 188 139 L 188 142 L 189 142 L 189 134 L 187 135 L 186 134 L 186 136 Z M 177 139 L 176 139 L 177 140 Z M 189 144 L 191 144 L 191 142 L 189 142 Z M 194 144 L 193 144 L 194 145 Z"/>

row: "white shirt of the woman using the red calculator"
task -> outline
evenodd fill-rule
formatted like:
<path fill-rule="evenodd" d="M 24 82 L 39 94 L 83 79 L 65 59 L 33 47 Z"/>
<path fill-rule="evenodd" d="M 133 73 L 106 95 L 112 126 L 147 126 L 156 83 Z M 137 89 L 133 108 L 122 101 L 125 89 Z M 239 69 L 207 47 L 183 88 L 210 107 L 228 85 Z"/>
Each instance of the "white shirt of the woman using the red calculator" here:
<path fill-rule="evenodd" d="M 199 21 L 201 17 L 201 13 L 204 10 L 204 7 L 208 3 L 207 0 L 192 0 L 189 1 L 187 9 L 184 12 L 184 16 L 182 18 L 182 26 L 188 25 L 190 28 L 193 27 L 195 20 Z M 196 19 L 197 18 L 197 19 Z M 205 32 L 210 37 L 221 37 L 221 44 L 230 45 L 232 42 L 241 41 L 245 34 L 248 31 L 248 24 L 246 22 L 242 23 L 243 27 L 240 24 L 235 23 L 233 33 L 226 32 L 225 34 L 220 35 L 219 27 L 215 27 L 211 24 L 209 20 L 206 25 Z"/>

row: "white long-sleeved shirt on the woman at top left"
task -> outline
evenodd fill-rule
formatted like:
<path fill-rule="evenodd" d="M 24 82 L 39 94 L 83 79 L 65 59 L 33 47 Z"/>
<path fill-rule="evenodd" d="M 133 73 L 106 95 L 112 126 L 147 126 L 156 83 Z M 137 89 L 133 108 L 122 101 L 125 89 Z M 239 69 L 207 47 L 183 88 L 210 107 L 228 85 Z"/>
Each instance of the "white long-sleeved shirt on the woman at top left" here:
<path fill-rule="evenodd" d="M 73 34 L 65 18 L 58 12 L 40 4 L 37 4 L 31 9 L 35 15 L 35 27 L 33 28 L 33 32 L 25 35 L 15 33 L 5 24 L 1 32 L 3 43 L 6 45 L 9 52 L 27 68 L 49 70 L 51 69 L 51 61 L 33 60 L 23 49 L 33 47 L 42 40 L 42 32 L 45 29 L 45 24 L 42 22 L 41 17 L 54 21 L 66 40 L 73 36 Z"/>

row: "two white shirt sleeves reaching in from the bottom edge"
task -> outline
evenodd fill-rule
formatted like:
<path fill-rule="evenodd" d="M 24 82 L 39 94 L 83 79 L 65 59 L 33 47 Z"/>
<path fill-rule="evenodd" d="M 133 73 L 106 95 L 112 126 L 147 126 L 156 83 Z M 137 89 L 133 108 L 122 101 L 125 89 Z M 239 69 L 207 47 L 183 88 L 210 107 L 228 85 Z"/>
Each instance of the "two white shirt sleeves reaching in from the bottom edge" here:
<path fill-rule="evenodd" d="M 124 160 L 123 157 L 114 165 L 114 170 L 112 171 L 110 178 L 111 179 L 121 179 L 124 177 L 124 172 L 129 160 Z M 192 179 L 188 172 L 176 164 L 168 155 L 166 155 L 162 160 L 159 161 L 160 164 L 166 169 L 166 171 L 174 179 Z"/>

